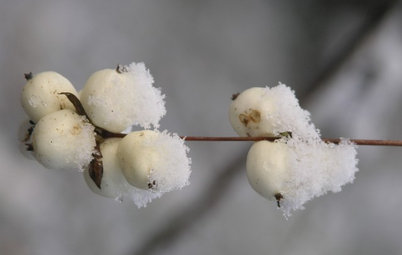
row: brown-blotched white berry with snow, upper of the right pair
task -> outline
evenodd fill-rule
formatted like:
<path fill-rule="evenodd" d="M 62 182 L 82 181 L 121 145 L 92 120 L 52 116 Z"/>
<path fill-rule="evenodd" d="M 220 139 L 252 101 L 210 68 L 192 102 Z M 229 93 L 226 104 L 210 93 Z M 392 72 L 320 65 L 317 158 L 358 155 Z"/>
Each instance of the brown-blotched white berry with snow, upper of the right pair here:
<path fill-rule="evenodd" d="M 254 87 L 233 98 L 229 119 L 239 136 L 276 136 L 291 132 L 303 137 L 319 137 L 294 94 L 284 84 L 276 87 Z"/>

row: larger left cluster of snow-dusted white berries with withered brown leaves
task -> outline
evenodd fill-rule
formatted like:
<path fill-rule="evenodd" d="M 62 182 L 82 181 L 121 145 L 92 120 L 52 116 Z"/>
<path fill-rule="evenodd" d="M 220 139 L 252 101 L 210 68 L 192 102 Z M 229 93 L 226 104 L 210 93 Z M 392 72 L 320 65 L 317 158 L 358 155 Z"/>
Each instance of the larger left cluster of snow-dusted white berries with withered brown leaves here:
<path fill-rule="evenodd" d="M 25 75 L 22 106 L 31 120 L 24 138 L 45 167 L 79 169 L 97 194 L 145 206 L 188 184 L 188 147 L 158 131 L 164 95 L 143 63 L 92 74 L 78 93 L 56 72 Z M 131 131 L 133 125 L 145 130 Z"/>

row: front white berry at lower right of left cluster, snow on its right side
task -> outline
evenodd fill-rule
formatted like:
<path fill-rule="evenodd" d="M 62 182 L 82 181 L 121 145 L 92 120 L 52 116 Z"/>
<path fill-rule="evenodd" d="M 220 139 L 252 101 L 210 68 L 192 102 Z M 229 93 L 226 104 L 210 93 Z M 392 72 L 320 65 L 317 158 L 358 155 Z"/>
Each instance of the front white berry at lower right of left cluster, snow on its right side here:
<path fill-rule="evenodd" d="M 168 192 L 188 184 L 188 148 L 177 135 L 150 130 L 122 139 L 118 158 L 127 181 L 140 189 Z"/>

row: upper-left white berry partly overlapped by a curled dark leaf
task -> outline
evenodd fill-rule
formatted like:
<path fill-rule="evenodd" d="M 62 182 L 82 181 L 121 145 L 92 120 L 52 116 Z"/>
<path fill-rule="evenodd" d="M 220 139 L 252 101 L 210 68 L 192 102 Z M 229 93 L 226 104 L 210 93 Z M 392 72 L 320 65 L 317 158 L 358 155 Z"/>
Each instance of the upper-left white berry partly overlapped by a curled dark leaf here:
<path fill-rule="evenodd" d="M 38 73 L 22 89 L 22 107 L 35 123 L 49 113 L 61 109 L 74 110 L 71 102 L 60 92 L 70 92 L 77 96 L 77 91 L 64 76 L 56 72 Z"/>

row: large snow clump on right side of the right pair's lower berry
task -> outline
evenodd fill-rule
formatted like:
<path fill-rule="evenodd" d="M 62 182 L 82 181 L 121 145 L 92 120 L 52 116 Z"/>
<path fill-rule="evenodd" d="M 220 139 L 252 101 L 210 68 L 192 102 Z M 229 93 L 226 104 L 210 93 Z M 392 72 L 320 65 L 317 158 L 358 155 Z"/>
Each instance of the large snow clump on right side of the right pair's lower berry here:
<path fill-rule="evenodd" d="M 341 191 L 343 185 L 353 182 L 358 171 L 356 146 L 347 139 L 339 145 L 298 137 L 277 142 L 286 142 L 289 147 L 289 174 L 280 203 L 285 216 L 303 209 L 303 204 L 314 197 Z"/>

